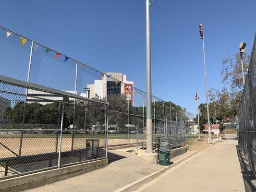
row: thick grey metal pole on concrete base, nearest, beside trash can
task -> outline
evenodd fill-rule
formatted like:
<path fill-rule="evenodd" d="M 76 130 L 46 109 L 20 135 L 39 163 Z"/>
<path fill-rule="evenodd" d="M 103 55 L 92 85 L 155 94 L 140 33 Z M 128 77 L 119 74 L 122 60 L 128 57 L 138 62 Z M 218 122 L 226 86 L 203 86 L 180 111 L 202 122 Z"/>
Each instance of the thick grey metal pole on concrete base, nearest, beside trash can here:
<path fill-rule="evenodd" d="M 146 153 L 144 161 L 148 163 L 158 163 L 157 153 L 153 153 L 152 137 L 152 94 L 151 94 L 151 50 L 150 50 L 150 5 L 155 2 L 146 0 Z M 154 156 L 154 157 L 153 157 Z M 153 158 L 152 158 L 153 157 Z"/>

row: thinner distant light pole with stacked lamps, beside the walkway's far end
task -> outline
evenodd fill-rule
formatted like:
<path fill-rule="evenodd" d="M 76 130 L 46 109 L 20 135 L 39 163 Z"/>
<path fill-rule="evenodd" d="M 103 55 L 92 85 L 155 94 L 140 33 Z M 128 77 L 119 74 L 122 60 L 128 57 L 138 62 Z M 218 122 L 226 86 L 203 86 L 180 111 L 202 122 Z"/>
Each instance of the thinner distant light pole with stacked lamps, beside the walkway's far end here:
<path fill-rule="evenodd" d="M 205 68 L 205 86 L 206 86 L 206 105 L 207 105 L 207 124 L 208 124 L 208 142 L 211 143 L 211 127 L 210 127 L 210 116 L 209 116 L 209 104 L 208 104 L 208 89 L 207 89 L 207 75 L 206 75 L 206 59 L 205 59 L 205 43 L 204 43 L 204 32 L 203 25 L 199 24 L 199 33 L 203 41 L 203 54 L 204 54 L 204 68 Z"/>

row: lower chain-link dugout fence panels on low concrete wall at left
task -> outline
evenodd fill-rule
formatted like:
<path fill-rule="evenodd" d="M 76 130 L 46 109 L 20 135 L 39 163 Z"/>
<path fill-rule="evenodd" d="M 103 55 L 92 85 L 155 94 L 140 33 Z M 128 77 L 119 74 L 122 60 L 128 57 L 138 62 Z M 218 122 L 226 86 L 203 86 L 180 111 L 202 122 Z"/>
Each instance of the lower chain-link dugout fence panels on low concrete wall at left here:
<path fill-rule="evenodd" d="M 105 102 L 0 75 L 0 180 L 107 158 L 107 110 Z"/>

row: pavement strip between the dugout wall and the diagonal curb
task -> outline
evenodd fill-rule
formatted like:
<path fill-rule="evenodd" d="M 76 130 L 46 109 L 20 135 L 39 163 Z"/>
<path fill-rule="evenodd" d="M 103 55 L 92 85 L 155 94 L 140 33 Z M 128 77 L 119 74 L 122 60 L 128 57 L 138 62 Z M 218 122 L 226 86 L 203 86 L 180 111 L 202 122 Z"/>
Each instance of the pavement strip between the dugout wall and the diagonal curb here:
<path fill-rule="evenodd" d="M 204 147 L 207 140 L 188 139 L 188 152 L 176 156 L 171 161 L 176 162 Z M 132 149 L 132 148 L 131 148 Z M 145 176 L 164 168 L 164 166 L 148 164 L 141 157 L 126 152 L 130 148 L 110 150 L 110 164 L 83 175 L 66 180 L 60 180 L 49 185 L 27 190 L 28 192 L 114 192 L 122 187 L 144 178 Z M 112 162 L 112 160 L 120 160 Z"/>

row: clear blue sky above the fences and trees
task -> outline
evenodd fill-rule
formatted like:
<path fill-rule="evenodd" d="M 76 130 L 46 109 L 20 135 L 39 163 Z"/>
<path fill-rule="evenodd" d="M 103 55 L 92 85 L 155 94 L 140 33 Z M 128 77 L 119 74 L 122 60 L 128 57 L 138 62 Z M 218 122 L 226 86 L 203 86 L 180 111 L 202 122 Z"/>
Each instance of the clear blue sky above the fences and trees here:
<path fill-rule="evenodd" d="M 250 53 L 255 0 L 157 0 L 151 6 L 152 93 L 196 114 L 205 102 L 204 25 L 208 87 L 221 88 L 221 60 Z M 146 90 L 145 0 L 8 0 L 0 24 L 102 72 L 123 72 Z"/>

